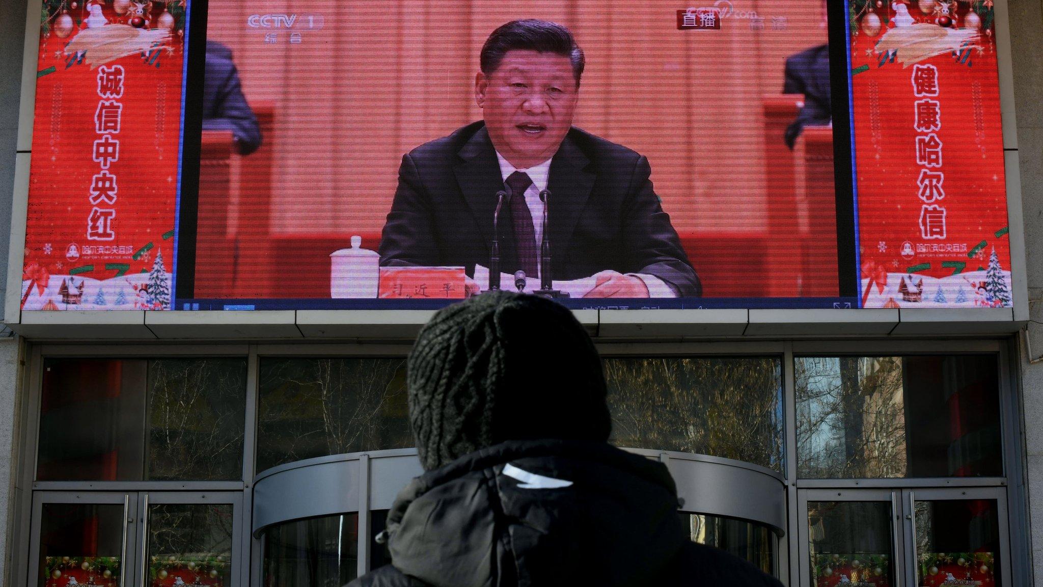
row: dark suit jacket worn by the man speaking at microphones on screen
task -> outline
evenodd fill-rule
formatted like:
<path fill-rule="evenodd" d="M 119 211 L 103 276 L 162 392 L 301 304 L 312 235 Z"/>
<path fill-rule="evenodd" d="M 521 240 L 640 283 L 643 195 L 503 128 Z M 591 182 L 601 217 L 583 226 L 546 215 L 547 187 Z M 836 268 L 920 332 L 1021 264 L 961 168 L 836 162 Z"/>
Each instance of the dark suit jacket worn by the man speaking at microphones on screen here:
<path fill-rule="evenodd" d="M 649 274 L 679 296 L 702 292 L 670 216 L 649 180 L 645 157 L 572 128 L 551 162 L 548 234 L 554 279 L 600 271 Z M 504 189 L 496 152 L 479 121 L 413 149 L 381 239 L 381 264 L 489 265 L 492 213 Z M 504 207 L 505 210 L 507 207 Z M 500 217 L 501 263 L 517 268 L 511 219 Z M 485 284 L 481 284 L 485 285 Z"/>

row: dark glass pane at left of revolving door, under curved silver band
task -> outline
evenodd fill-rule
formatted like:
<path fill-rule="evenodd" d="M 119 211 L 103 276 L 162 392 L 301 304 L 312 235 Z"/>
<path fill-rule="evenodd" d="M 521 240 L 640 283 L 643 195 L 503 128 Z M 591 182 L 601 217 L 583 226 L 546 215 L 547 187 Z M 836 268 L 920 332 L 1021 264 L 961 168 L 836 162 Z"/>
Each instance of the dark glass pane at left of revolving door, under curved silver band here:
<path fill-rule="evenodd" d="M 264 533 L 261 584 L 340 586 L 358 576 L 359 515 L 287 522 Z"/>

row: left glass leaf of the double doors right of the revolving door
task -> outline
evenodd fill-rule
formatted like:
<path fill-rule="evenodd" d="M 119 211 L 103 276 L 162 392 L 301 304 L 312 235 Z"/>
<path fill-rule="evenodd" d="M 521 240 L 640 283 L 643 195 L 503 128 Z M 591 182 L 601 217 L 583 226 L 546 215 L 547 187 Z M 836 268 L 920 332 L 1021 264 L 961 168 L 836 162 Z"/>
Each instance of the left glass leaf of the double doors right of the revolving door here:
<path fill-rule="evenodd" d="M 900 585 L 900 498 L 890 490 L 802 491 L 800 585 Z"/>

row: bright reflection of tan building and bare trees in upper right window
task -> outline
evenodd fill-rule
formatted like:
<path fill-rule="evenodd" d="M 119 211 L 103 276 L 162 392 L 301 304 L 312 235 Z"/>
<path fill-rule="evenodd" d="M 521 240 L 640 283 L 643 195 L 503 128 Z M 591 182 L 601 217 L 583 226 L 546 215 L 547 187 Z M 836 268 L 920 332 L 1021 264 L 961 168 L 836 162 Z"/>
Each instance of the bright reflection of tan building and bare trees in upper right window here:
<path fill-rule="evenodd" d="M 905 416 L 900 357 L 798 357 L 802 477 L 900 477 Z"/>

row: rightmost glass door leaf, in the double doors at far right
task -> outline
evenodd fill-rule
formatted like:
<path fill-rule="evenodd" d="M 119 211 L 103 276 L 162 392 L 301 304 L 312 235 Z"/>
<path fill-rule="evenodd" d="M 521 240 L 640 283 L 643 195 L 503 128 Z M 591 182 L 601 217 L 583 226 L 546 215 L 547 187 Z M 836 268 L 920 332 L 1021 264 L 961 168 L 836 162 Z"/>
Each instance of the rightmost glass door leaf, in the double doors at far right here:
<path fill-rule="evenodd" d="M 906 489 L 905 539 L 917 587 L 1010 584 L 1006 501 L 997 488 Z"/>

